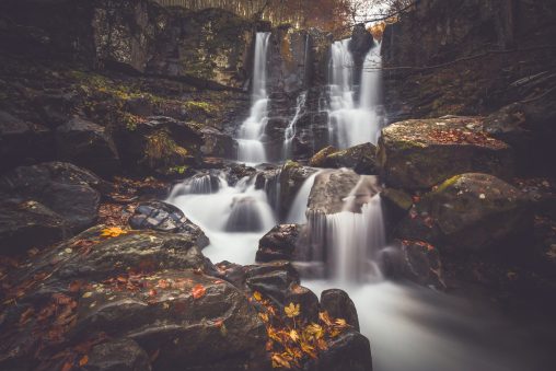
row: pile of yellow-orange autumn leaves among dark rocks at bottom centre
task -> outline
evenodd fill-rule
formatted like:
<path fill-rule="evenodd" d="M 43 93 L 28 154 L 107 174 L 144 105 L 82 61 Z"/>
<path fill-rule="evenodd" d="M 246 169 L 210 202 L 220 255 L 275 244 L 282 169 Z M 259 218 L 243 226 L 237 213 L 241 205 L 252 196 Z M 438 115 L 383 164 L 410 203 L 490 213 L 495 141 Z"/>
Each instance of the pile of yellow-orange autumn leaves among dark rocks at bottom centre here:
<path fill-rule="evenodd" d="M 303 320 L 300 304 L 289 303 L 282 312 L 258 291 L 250 301 L 265 323 L 266 350 L 276 369 L 301 370 L 303 363 L 316 359 L 334 338 L 350 327 L 345 320 L 332 318 L 327 312 L 318 313 L 317 323 L 310 323 Z"/>

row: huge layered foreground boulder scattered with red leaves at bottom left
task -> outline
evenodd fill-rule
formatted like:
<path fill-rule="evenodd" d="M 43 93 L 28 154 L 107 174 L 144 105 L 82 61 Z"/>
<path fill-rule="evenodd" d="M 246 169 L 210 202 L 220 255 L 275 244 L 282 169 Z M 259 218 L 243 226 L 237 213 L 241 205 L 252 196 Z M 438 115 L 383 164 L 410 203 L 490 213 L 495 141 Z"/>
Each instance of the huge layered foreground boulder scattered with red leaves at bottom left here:
<path fill-rule="evenodd" d="M 51 356 L 92 346 L 93 370 L 265 368 L 263 322 L 243 292 L 211 276 L 193 236 L 102 232 L 88 230 L 10 277 L 18 305 L 2 323 L 0 368 L 59 369 L 67 358 Z"/>

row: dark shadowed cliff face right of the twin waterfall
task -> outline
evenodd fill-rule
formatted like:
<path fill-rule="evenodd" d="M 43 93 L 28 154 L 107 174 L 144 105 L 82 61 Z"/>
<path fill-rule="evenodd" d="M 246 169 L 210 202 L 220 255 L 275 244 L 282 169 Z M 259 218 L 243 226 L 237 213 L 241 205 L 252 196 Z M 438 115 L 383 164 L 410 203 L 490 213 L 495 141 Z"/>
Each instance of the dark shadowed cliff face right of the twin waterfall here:
<path fill-rule="evenodd" d="M 391 120 L 484 114 L 522 98 L 514 82 L 554 68 L 555 20 L 554 1 L 418 1 L 384 33 Z"/>

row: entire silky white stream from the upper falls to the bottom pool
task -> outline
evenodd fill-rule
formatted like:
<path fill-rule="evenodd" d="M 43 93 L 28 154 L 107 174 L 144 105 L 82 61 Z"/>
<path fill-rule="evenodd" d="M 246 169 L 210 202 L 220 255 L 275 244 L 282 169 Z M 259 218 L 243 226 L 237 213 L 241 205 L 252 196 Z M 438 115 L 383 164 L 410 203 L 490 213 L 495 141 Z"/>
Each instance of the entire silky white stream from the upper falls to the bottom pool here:
<path fill-rule="evenodd" d="M 267 105 L 268 36 L 257 34 L 254 104 L 240 131 L 240 161 L 251 163 L 266 159 L 260 137 Z M 337 42 L 332 47 L 331 131 L 340 147 L 373 141 L 380 129 L 375 113 L 380 76 L 363 69 L 360 103 L 356 103 L 347 43 Z M 380 62 L 377 49 L 370 51 L 366 65 Z M 294 120 L 291 127 L 287 140 L 292 138 Z M 340 212 L 309 216 L 308 221 L 308 198 L 317 175 L 305 181 L 287 217 L 288 222 L 309 223 L 312 228 L 312 241 L 306 246 L 311 262 L 305 263 L 321 264 L 321 277 L 304 277 L 303 285 L 317 295 L 329 288 L 349 293 L 358 310 L 361 333 L 371 343 L 374 371 L 536 370 L 528 366 L 529 347 L 523 347 L 530 341 L 528 336 L 498 315 L 443 293 L 384 280 L 377 264 L 386 240 L 375 177 L 361 177 Z M 210 245 L 204 254 L 213 263 L 242 265 L 254 263 L 258 240 L 277 223 L 273 206 L 279 204 L 270 202 L 265 189 L 255 189 L 254 177 L 232 185 L 223 172 L 184 182 L 167 201 L 205 231 Z M 520 351 L 512 352 L 517 347 Z"/>

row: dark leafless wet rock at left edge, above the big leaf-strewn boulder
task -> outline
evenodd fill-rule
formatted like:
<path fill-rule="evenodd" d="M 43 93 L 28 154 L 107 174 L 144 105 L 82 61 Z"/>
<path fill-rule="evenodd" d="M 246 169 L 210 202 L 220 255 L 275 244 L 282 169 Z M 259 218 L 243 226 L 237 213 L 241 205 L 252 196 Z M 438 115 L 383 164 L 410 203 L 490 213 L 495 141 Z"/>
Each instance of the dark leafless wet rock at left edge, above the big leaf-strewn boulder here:
<path fill-rule="evenodd" d="M 73 232 L 97 218 L 101 194 L 107 185 L 93 173 L 65 162 L 21 166 L 0 177 L 0 192 L 21 200 L 35 200 L 66 220 Z"/>

